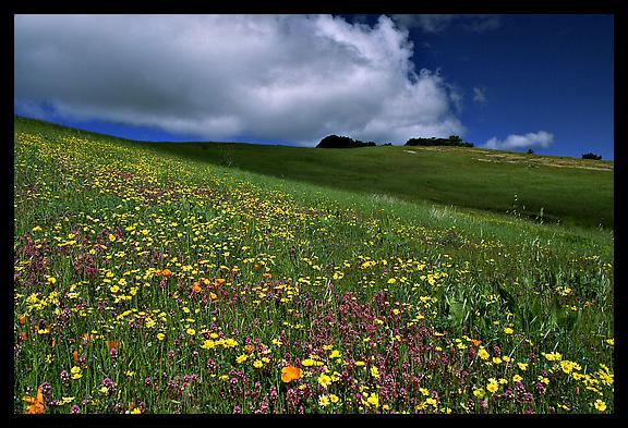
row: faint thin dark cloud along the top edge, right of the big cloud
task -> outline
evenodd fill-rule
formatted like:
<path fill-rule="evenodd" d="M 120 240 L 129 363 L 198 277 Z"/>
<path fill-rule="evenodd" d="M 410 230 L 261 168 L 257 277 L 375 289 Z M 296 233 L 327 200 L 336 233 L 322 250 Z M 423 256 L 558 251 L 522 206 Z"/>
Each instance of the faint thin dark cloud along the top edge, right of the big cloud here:
<path fill-rule="evenodd" d="M 484 33 L 502 26 L 499 15 L 485 14 L 394 14 L 395 22 L 403 28 L 420 28 L 424 33 L 443 33 L 450 25 L 457 24 L 472 33 Z"/>

